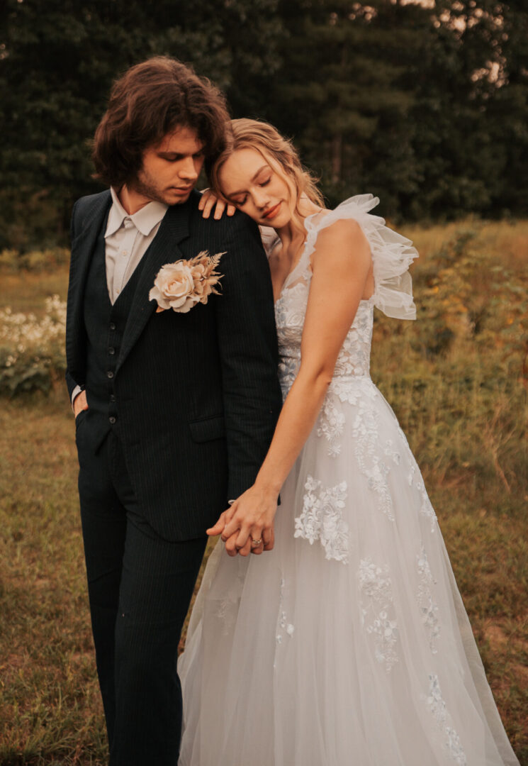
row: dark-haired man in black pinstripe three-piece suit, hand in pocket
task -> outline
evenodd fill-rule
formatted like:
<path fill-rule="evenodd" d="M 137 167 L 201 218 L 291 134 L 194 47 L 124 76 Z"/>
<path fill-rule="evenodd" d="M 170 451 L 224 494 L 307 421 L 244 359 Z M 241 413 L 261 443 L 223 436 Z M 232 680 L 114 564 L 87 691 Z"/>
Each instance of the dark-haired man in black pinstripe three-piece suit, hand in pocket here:
<path fill-rule="evenodd" d="M 132 67 L 95 135 L 109 191 L 73 208 L 67 384 L 111 766 L 178 762 L 176 657 L 205 530 L 253 483 L 281 404 L 259 231 L 197 208 L 227 119 L 184 64 Z M 158 271 L 202 250 L 223 253 L 220 295 L 157 313 Z"/>

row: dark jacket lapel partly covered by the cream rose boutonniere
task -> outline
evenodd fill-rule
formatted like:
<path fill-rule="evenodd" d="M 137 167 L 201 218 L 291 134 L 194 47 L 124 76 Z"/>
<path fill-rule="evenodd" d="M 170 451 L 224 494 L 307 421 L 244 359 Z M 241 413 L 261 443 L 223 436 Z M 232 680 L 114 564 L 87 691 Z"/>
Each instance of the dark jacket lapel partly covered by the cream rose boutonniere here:
<path fill-rule="evenodd" d="M 148 293 L 154 280 L 162 266 L 168 263 L 174 263 L 175 260 L 183 258 L 178 243 L 189 235 L 189 213 L 191 211 L 189 204 L 174 205 L 168 208 L 163 221 L 161 221 L 158 234 L 143 256 L 145 262 L 142 272 L 135 288 L 134 299 L 130 309 L 129 318 L 126 322 L 125 332 L 119 352 L 119 359 L 116 365 L 118 372 L 122 363 L 129 355 L 132 346 L 141 335 L 148 319 L 155 312 L 157 304 L 155 300 L 148 300 Z"/>

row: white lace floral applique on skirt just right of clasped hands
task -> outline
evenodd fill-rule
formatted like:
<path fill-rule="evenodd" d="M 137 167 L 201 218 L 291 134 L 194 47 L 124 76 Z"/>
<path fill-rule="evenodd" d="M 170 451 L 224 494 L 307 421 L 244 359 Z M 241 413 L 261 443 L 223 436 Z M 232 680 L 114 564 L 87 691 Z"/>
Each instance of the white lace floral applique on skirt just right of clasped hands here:
<path fill-rule="evenodd" d="M 301 516 L 295 519 L 295 537 L 313 545 L 320 540 L 328 559 L 348 563 L 348 525 L 343 520 L 344 501 L 347 499 L 346 481 L 325 487 L 309 476 L 305 483 Z"/>

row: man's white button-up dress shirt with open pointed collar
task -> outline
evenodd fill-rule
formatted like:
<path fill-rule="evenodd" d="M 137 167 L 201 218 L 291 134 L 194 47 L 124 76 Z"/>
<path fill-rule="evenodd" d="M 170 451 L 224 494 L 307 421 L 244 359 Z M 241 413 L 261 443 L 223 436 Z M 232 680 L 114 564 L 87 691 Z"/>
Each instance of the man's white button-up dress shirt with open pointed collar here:
<path fill-rule="evenodd" d="M 135 267 L 145 255 L 148 246 L 158 234 L 161 220 L 168 205 L 163 202 L 148 202 L 144 208 L 129 215 L 121 205 L 117 192 L 110 189 L 112 207 L 108 214 L 105 232 L 106 284 L 112 306 L 119 293 L 134 273 Z M 82 389 L 76 386 L 71 402 Z"/>

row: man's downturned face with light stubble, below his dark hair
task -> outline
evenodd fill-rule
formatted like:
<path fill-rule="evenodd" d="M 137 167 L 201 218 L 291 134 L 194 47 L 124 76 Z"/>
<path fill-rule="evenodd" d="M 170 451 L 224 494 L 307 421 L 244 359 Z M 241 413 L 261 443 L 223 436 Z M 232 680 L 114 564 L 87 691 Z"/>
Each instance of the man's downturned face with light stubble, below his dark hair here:
<path fill-rule="evenodd" d="M 138 177 L 128 184 L 145 201 L 181 205 L 187 201 L 204 164 L 204 144 L 192 128 L 178 127 L 146 149 Z"/>

